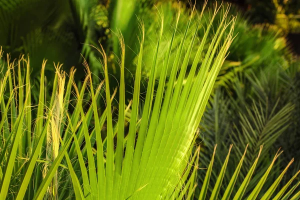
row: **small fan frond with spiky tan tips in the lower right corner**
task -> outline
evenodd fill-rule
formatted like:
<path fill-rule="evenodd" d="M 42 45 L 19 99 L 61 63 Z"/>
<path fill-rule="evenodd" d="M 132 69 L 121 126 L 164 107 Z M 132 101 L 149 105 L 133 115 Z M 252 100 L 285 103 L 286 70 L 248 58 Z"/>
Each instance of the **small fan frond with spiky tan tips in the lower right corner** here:
<path fill-rule="evenodd" d="M 209 162 L 209 165 L 207 167 L 207 171 L 204 175 L 204 179 L 200 182 L 200 193 L 198 199 L 298 199 L 300 197 L 300 192 L 295 192 L 298 185 L 300 184 L 300 181 L 297 181 L 296 184 L 294 184 L 287 192 L 287 188 L 290 186 L 291 182 L 296 179 L 297 175 L 299 174 L 300 170 L 297 171 L 290 179 L 289 181 L 284 184 L 282 187 L 278 188 L 278 185 L 280 181 L 282 180 L 283 175 L 286 173 L 288 167 L 293 162 L 293 159 L 290 160 L 288 165 L 282 170 L 281 173 L 279 173 L 272 182 L 271 185 L 265 184 L 268 178 L 268 175 L 270 174 L 270 171 L 274 165 L 275 160 L 278 158 L 278 156 L 282 153 L 282 151 L 277 151 L 273 159 L 271 159 L 268 164 L 266 165 L 265 170 L 260 172 L 260 176 L 258 177 L 257 184 L 251 188 L 248 189 L 250 181 L 254 180 L 255 177 L 252 177 L 254 174 L 254 171 L 257 170 L 256 166 L 258 165 L 258 158 L 262 152 L 262 145 L 259 147 L 259 151 L 257 153 L 257 156 L 254 155 L 255 159 L 251 163 L 251 167 L 246 171 L 245 174 L 239 175 L 240 170 L 243 166 L 243 163 L 246 161 L 246 154 L 247 154 L 247 147 L 246 146 L 240 160 L 237 159 L 236 156 L 233 157 L 234 159 L 237 159 L 238 162 L 233 168 L 227 167 L 227 164 L 229 163 L 229 155 L 232 148 L 232 145 L 230 145 L 228 149 L 228 154 L 224 156 L 224 161 L 221 162 L 221 168 L 219 170 L 212 170 L 213 162 L 216 155 L 216 145 L 214 146 L 214 150 L 211 156 L 211 160 Z M 240 150 L 240 149 L 238 149 Z M 219 162 L 219 161 L 218 161 Z M 232 166 L 229 164 L 229 166 Z M 226 169 L 229 168 L 229 171 L 226 171 Z M 232 173 L 230 172 L 232 171 Z M 201 172 L 201 171 L 200 171 Z M 218 172 L 218 175 L 216 176 L 217 179 L 213 184 L 211 184 L 211 180 L 214 180 L 214 178 L 211 178 L 211 175 L 214 175 L 214 172 Z M 200 173 L 201 175 L 201 173 Z M 228 181 L 226 181 L 226 178 Z M 238 180 L 242 179 L 242 181 L 239 183 Z M 252 179 L 251 179 L 252 178 Z M 235 190 L 236 188 L 236 190 Z M 263 190 L 264 189 L 264 190 Z M 278 189 L 277 192 L 275 190 Z M 209 191 L 210 190 L 210 191 Z M 208 192 L 209 191 L 209 192 Z M 295 194 L 292 194 L 295 192 Z M 232 195 L 234 194 L 234 195 Z M 230 198 L 230 196 L 233 196 Z"/>

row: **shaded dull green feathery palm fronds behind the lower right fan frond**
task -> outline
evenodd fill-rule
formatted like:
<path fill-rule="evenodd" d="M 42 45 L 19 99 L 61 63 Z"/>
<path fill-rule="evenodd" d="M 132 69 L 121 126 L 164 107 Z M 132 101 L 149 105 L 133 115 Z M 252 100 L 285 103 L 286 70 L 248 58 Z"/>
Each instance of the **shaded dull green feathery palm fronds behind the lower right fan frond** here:
<path fill-rule="evenodd" d="M 298 63 L 294 63 L 288 69 L 280 66 L 275 69 L 266 68 L 255 74 L 253 71 L 237 73 L 232 79 L 232 88 L 224 90 L 218 88 L 211 97 L 206 111 L 200 122 L 200 136 L 203 153 L 200 167 L 208 165 L 210 154 L 213 152 L 213 144 L 218 143 L 216 150 L 214 170 L 212 171 L 212 183 L 216 181 L 217 173 L 226 155 L 229 144 L 233 144 L 231 154 L 234 158 L 228 164 L 228 174 L 233 174 L 233 168 L 238 164 L 236 157 L 240 157 L 241 149 L 248 145 L 244 157 L 244 164 L 241 167 L 241 176 L 245 176 L 251 163 L 255 160 L 259 146 L 263 145 L 257 169 L 249 182 L 246 193 L 253 189 L 259 177 L 266 171 L 271 155 L 281 147 L 283 153 L 274 164 L 274 170 L 267 178 L 262 191 L 266 191 L 279 171 L 282 170 L 292 158 L 294 163 L 290 166 L 287 175 L 289 179 L 298 169 L 299 151 L 293 146 L 298 145 Z M 224 177 L 224 182 L 229 182 L 230 176 Z M 199 174 L 199 181 L 204 175 Z M 242 179 L 237 179 L 241 183 Z M 211 187 L 209 187 L 211 188 Z M 233 191 L 236 191 L 234 188 Z M 224 192 L 224 189 L 223 189 Z M 262 194 L 261 194 L 262 195 Z M 259 195 L 260 196 L 260 195 Z M 260 196 L 261 197 L 261 196 Z"/>

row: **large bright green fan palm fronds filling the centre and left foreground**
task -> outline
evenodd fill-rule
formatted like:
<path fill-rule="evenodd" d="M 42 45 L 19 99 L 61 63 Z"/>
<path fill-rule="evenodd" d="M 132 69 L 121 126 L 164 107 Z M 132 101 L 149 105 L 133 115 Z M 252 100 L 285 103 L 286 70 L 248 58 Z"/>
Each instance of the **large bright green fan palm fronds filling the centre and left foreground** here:
<path fill-rule="evenodd" d="M 201 39 L 194 64 L 183 84 L 192 46 L 200 40 L 197 37 L 199 22 L 191 30 L 189 24 L 192 17 L 189 17 L 164 93 L 170 49 L 174 45 L 173 38 L 177 34 L 176 26 L 181 17 L 178 10 L 173 34 L 167 38 L 168 50 L 164 56 L 162 75 L 158 80 L 153 101 L 160 39 L 157 41 L 142 118 L 139 121 L 137 113 L 144 42 L 144 27 L 140 22 L 140 50 L 128 125 L 125 124 L 125 46 L 120 34 L 122 53 L 117 123 L 112 120 L 109 89 L 105 89 L 105 110 L 101 114 L 98 112 L 99 92 L 104 85 L 109 88 L 107 57 L 102 46 L 98 51 L 102 55 L 100 63 L 105 71 L 105 81 L 95 86 L 87 62 L 84 61 L 87 76 L 78 88 L 73 82 L 74 69 L 70 70 L 69 79 L 66 81 L 66 74 L 60 71 L 60 65 L 57 64 L 49 101 L 44 96 L 46 61 L 43 61 L 40 92 L 35 106 L 31 103 L 29 60 L 21 57 L 16 63 L 15 74 L 14 61 L 7 59 L 7 70 L 2 70 L 4 74 L 0 86 L 0 199 L 61 199 L 73 195 L 78 199 L 156 199 L 159 196 L 172 197 L 174 192 L 180 193 L 181 185 L 185 182 L 181 174 L 188 167 L 185 158 L 189 157 L 197 125 L 213 82 L 233 39 L 234 17 L 229 21 L 226 19 L 227 8 L 222 10 L 224 17 L 220 20 L 220 26 L 215 31 L 201 67 L 196 70 L 218 9 L 220 7 L 215 7 L 207 23 L 205 37 Z M 203 11 L 199 18 L 202 14 Z M 226 28 L 230 31 L 221 43 L 220 38 Z M 193 32 L 192 40 L 184 51 L 184 40 L 191 34 L 190 31 Z M 163 17 L 160 38 L 162 34 Z M 184 54 L 182 62 L 181 54 Z M 23 67 L 25 70 L 21 70 Z M 6 85 L 9 91 L 7 99 L 3 98 Z M 88 96 L 85 96 L 85 90 L 88 90 Z M 71 93 L 76 96 L 73 101 L 69 101 Z M 71 106 L 74 109 L 69 112 Z M 127 126 L 128 131 L 125 131 Z M 70 186 L 72 189 L 69 189 Z"/>

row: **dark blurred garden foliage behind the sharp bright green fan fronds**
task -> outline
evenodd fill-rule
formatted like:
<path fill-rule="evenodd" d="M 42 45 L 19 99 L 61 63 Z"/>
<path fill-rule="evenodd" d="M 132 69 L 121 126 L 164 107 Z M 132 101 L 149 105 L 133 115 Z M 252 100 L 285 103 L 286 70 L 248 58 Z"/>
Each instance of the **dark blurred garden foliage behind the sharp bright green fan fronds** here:
<path fill-rule="evenodd" d="M 209 7 L 212 7 L 214 2 L 209 0 Z M 251 180 L 251 186 L 248 187 L 250 190 L 257 184 L 259 173 L 266 170 L 268 165 L 264 163 L 272 159 L 271 156 L 278 147 L 284 150 L 284 156 L 281 156 L 276 165 L 278 170 L 273 173 L 278 173 L 292 157 L 295 158 L 295 163 L 291 166 L 293 170 L 288 174 L 294 174 L 294 171 L 300 168 L 300 1 L 225 2 L 232 3 L 232 14 L 238 13 L 234 29 L 236 37 L 229 48 L 230 53 L 221 68 L 213 94 L 199 124 L 197 143 L 201 145 L 202 152 L 199 163 L 200 167 L 207 167 L 214 144 L 217 143 L 211 181 L 211 185 L 214 185 L 229 144 L 234 144 L 231 153 L 233 159 L 230 159 L 227 167 L 228 170 L 232 169 L 231 173 L 243 154 L 239 150 L 244 149 L 246 144 L 249 145 L 248 152 L 251 153 L 247 154 L 241 169 L 247 171 L 259 146 L 264 144 L 259 167 L 255 172 L 257 178 L 254 176 Z M 188 7 L 193 2 L 181 3 L 186 4 L 182 9 L 187 19 Z M 200 0 L 196 2 L 198 10 L 201 10 L 202 3 Z M 144 88 L 141 88 L 145 89 L 154 53 L 153 44 L 157 40 L 157 24 L 160 24 L 157 23 L 160 17 L 154 10 L 158 9 L 163 14 L 164 32 L 171 35 L 172 28 L 169 24 L 176 14 L 177 6 L 177 1 L 171 0 L 0 0 L 0 46 L 4 52 L 10 53 L 11 58 L 28 54 L 33 69 L 31 77 L 39 77 L 36 74 L 39 73 L 45 58 L 48 60 L 46 71 L 54 70 L 53 62 L 63 63 L 66 71 L 75 66 L 75 79 L 80 81 L 84 77 L 81 64 L 83 57 L 93 75 L 100 79 L 103 77 L 103 70 L 97 61 L 99 55 L 96 49 L 90 46 L 99 46 L 100 42 L 108 55 L 110 75 L 119 77 L 119 46 L 115 32 L 120 31 L 126 45 L 126 97 L 130 99 L 132 73 L 135 71 L 134 63 L 139 46 L 135 39 L 139 32 L 138 20 L 144 22 L 146 30 L 142 71 Z M 206 22 L 210 14 L 209 11 L 204 13 L 202 23 Z M 181 17 L 178 31 L 184 31 L 186 19 Z M 214 23 L 213 26 L 217 26 L 217 21 Z M 195 25 L 191 24 L 191 28 Z M 198 34 L 201 38 L 202 28 L 199 28 Z M 186 39 L 186 45 L 189 39 L 191 38 Z M 161 42 L 167 44 L 168 40 L 162 39 Z M 176 43 L 176 38 L 174 42 Z M 166 51 L 166 47 L 167 45 L 160 45 L 159 52 Z M 112 51 L 114 53 L 111 53 Z M 171 55 L 169 66 L 172 66 L 174 56 Z M 158 63 L 162 65 L 162 57 L 159 59 Z M 158 65 L 157 75 L 159 68 L 161 67 Z M 47 76 L 49 85 L 51 78 Z M 36 81 L 38 82 L 38 79 Z M 111 89 L 117 84 L 117 81 L 111 81 Z M 34 89 L 35 87 L 32 88 L 33 96 Z M 143 102 L 140 104 L 142 107 Z M 199 184 L 204 175 L 205 172 L 199 170 Z M 223 181 L 228 182 L 231 175 L 228 173 Z M 270 176 L 265 188 L 268 188 L 272 181 Z"/>

